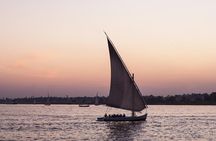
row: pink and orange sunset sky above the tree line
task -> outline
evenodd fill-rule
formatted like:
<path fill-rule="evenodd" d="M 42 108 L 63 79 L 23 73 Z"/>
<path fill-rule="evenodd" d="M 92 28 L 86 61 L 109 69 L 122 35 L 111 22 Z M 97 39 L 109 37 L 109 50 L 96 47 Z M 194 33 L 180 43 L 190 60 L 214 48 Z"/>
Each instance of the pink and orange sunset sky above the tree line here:
<path fill-rule="evenodd" d="M 107 96 L 103 31 L 143 95 L 216 91 L 215 0 L 1 0 L 0 98 Z"/>

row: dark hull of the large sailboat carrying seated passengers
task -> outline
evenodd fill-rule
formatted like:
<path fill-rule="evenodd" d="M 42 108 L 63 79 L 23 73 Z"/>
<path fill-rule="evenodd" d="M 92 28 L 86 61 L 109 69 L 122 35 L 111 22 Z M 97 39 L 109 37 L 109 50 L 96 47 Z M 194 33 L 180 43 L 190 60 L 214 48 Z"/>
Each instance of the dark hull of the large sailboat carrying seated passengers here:
<path fill-rule="evenodd" d="M 147 113 L 142 116 L 134 117 L 99 117 L 97 121 L 145 121 L 147 118 Z"/>

